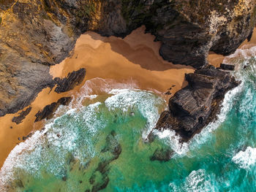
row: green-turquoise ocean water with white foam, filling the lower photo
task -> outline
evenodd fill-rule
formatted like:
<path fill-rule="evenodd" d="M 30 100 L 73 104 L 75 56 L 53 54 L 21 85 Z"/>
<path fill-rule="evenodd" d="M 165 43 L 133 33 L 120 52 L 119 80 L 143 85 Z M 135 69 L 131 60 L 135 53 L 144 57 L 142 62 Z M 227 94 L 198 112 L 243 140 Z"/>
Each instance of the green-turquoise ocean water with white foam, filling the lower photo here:
<path fill-rule="evenodd" d="M 87 82 L 78 101 L 12 150 L 0 191 L 256 191 L 254 49 L 226 58 L 241 85 L 217 120 L 183 145 L 173 131 L 147 141 L 167 106 L 156 93 L 98 80 L 104 89 L 90 95 L 96 84 Z M 156 150 L 173 158 L 152 161 Z"/>

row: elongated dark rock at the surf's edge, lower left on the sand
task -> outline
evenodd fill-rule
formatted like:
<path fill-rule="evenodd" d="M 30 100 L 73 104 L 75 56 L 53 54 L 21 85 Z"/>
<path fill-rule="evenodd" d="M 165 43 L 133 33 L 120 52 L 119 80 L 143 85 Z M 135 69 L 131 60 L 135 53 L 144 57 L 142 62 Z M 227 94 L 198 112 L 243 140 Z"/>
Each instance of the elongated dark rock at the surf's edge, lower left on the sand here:
<path fill-rule="evenodd" d="M 36 120 L 34 122 L 37 122 L 39 120 L 43 119 L 50 119 L 53 118 L 54 112 L 58 109 L 58 107 L 62 105 L 68 105 L 70 101 L 72 100 L 71 97 L 62 97 L 57 102 L 53 102 L 52 104 L 48 104 L 45 106 L 45 108 L 42 111 L 38 111 L 36 114 Z"/>

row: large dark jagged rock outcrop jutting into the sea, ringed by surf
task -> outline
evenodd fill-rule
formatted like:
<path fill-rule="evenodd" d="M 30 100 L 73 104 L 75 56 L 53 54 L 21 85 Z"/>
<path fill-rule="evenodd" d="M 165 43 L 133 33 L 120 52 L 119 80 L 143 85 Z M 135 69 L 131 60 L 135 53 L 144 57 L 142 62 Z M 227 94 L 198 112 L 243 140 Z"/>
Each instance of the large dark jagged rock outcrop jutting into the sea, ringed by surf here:
<path fill-rule="evenodd" d="M 169 101 L 169 110 L 162 112 L 156 128 L 172 129 L 187 142 L 216 118 L 225 93 L 238 85 L 228 72 L 214 66 L 187 74 L 187 87 L 178 91 Z"/>

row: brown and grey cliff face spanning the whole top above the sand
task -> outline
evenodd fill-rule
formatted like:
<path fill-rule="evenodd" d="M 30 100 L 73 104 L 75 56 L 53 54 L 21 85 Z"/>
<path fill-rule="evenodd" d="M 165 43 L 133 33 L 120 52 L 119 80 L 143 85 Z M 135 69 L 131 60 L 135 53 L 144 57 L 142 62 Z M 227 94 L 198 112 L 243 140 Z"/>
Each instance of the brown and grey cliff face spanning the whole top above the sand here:
<path fill-rule="evenodd" d="M 56 82 L 50 65 L 92 30 L 125 37 L 146 25 L 174 64 L 206 66 L 209 50 L 233 53 L 255 26 L 255 0 L 0 0 L 0 116 Z"/>

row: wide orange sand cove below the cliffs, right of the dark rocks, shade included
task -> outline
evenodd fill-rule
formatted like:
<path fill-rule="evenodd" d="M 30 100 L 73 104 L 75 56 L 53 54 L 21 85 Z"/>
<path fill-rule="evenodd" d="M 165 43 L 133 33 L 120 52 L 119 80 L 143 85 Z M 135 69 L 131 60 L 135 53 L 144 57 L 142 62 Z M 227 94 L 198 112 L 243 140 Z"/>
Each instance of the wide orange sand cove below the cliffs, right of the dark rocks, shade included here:
<path fill-rule="evenodd" d="M 72 70 L 86 68 L 86 80 L 94 77 L 114 79 L 120 82 L 132 80 L 138 87 L 175 93 L 184 83 L 184 74 L 194 72 L 189 66 L 173 65 L 159 55 L 160 42 L 154 36 L 144 34 L 145 27 L 138 28 L 128 37 L 101 37 L 94 32 L 83 34 L 75 45 L 72 58 L 51 67 L 53 77 L 64 77 Z"/>

